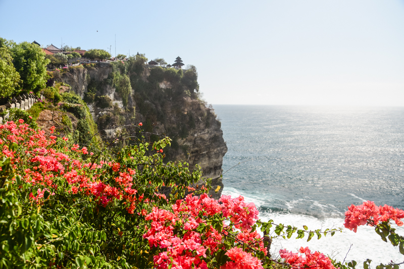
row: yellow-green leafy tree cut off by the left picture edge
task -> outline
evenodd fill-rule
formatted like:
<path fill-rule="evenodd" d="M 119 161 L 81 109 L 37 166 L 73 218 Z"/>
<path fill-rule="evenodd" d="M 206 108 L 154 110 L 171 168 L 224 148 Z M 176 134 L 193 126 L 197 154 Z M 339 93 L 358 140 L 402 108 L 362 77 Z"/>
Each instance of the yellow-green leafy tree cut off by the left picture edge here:
<path fill-rule="evenodd" d="M 7 47 L 0 47 L 0 97 L 9 97 L 18 89 L 20 74 L 13 65 L 13 58 Z"/>

